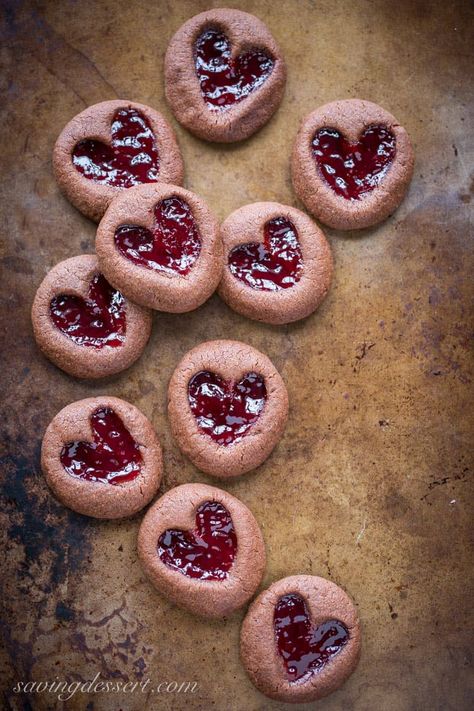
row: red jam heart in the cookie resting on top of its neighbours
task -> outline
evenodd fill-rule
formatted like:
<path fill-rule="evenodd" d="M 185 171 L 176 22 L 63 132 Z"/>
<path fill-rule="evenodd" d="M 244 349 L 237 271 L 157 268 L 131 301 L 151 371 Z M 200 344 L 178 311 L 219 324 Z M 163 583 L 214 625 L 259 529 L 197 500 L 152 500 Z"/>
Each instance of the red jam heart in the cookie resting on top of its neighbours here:
<path fill-rule="evenodd" d="M 150 231 L 138 225 L 120 225 L 115 245 L 134 264 L 168 274 L 188 274 L 201 252 L 201 237 L 189 205 L 179 197 L 155 206 Z"/>

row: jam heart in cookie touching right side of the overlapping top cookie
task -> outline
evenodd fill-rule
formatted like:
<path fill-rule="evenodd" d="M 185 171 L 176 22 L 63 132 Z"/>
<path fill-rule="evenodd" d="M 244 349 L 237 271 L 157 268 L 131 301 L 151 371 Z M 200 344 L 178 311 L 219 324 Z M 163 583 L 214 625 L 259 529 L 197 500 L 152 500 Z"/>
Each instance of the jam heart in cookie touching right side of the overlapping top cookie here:
<path fill-rule="evenodd" d="M 252 289 L 279 291 L 294 286 L 303 271 L 295 226 L 284 217 L 265 224 L 264 241 L 235 247 L 229 254 L 229 269 Z"/>

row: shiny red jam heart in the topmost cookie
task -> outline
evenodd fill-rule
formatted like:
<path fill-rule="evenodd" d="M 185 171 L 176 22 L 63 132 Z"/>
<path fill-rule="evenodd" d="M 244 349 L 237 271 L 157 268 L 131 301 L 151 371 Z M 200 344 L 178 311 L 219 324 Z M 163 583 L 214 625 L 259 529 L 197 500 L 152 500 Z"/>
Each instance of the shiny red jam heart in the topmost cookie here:
<path fill-rule="evenodd" d="M 225 111 L 241 101 L 270 76 L 274 60 L 261 49 L 232 58 L 228 37 L 207 29 L 196 42 L 196 73 L 208 108 Z"/>

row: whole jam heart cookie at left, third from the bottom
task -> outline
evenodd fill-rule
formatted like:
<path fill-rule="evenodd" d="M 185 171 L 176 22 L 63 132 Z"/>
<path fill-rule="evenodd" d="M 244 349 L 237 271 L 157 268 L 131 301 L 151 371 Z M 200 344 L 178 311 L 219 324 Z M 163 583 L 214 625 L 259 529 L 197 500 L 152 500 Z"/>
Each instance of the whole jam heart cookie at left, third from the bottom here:
<path fill-rule="evenodd" d="M 73 402 L 49 424 L 41 467 L 53 494 L 94 518 L 132 516 L 158 491 L 161 447 L 140 410 L 116 397 Z"/>

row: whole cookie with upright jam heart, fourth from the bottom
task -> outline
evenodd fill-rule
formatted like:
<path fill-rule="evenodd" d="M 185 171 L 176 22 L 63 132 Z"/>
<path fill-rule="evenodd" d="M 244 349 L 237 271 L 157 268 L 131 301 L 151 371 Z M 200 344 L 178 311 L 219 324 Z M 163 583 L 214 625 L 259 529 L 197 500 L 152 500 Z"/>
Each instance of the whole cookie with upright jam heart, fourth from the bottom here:
<path fill-rule="evenodd" d="M 285 428 L 288 394 L 275 366 L 239 341 L 190 350 L 168 387 L 171 431 L 193 464 L 220 478 L 256 469 Z"/>

